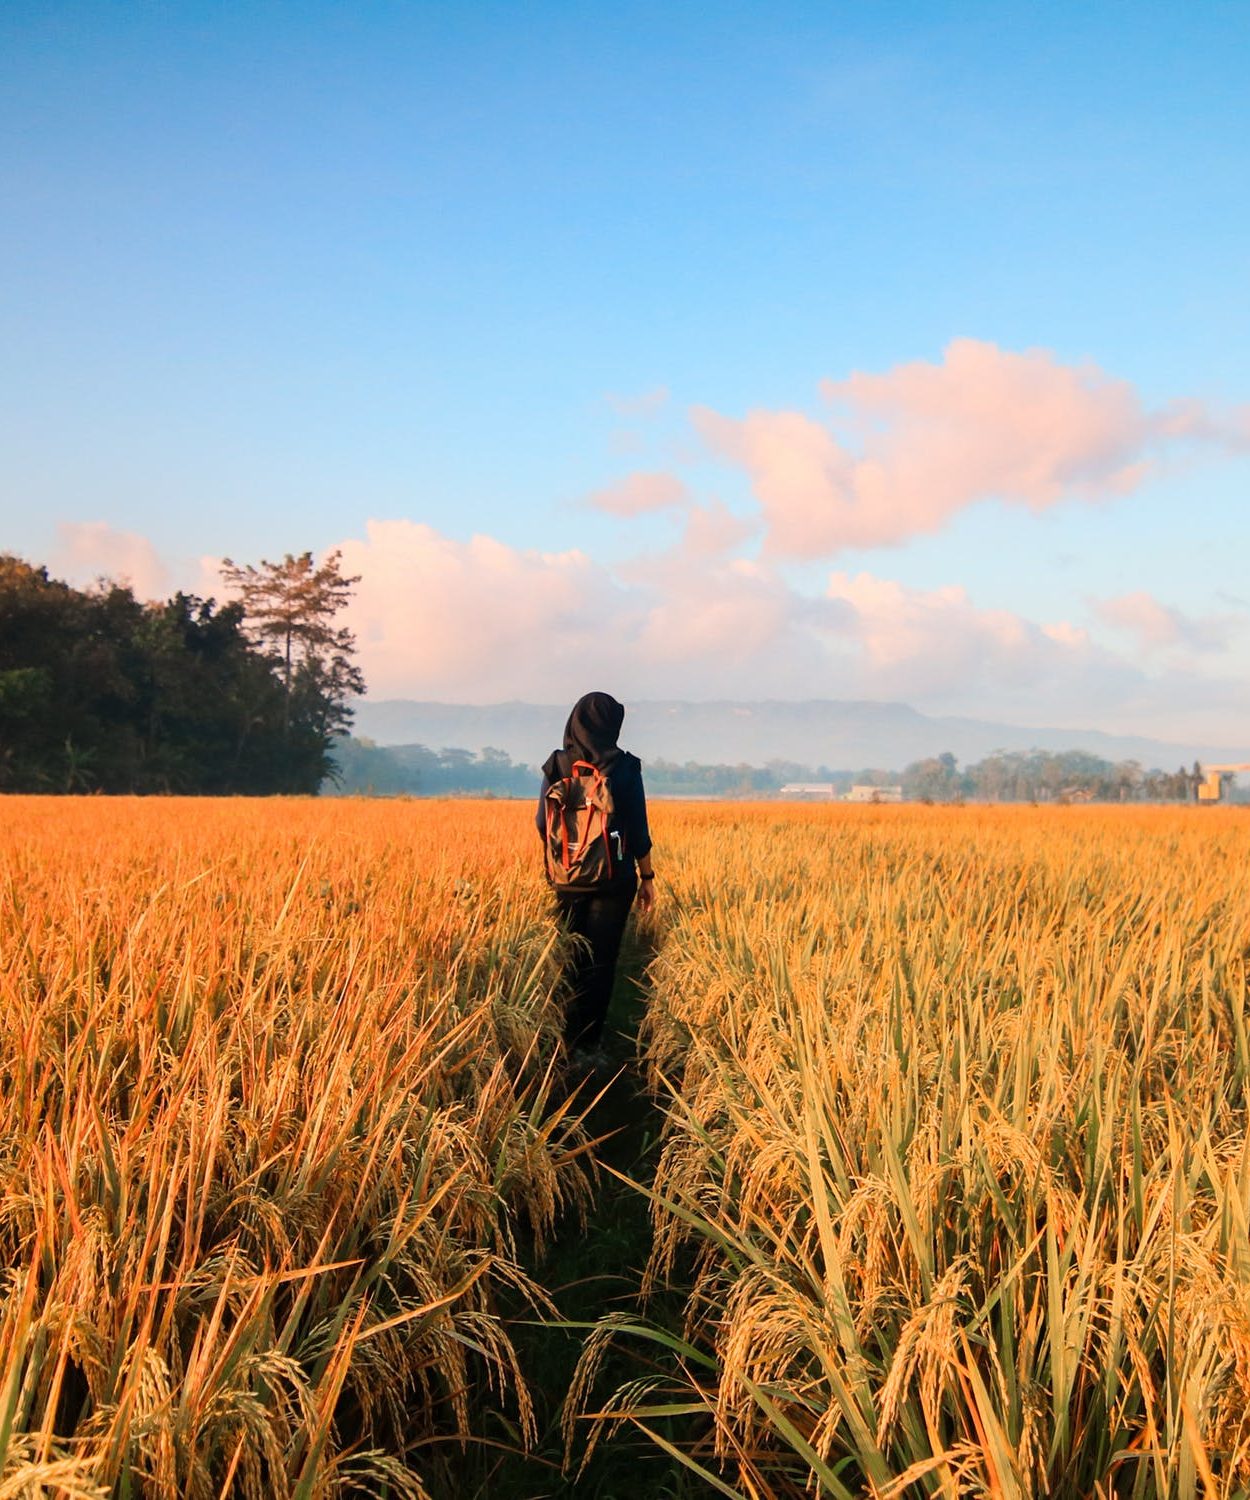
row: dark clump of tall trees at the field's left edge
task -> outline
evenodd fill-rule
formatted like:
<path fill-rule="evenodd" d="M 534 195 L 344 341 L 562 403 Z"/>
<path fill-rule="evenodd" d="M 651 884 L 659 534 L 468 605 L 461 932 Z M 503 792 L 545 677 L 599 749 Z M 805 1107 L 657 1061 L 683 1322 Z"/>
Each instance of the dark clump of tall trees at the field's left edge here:
<path fill-rule="evenodd" d="M 0 554 L 0 790 L 314 794 L 365 690 L 339 554 L 225 560 L 236 596 L 140 600 Z"/>

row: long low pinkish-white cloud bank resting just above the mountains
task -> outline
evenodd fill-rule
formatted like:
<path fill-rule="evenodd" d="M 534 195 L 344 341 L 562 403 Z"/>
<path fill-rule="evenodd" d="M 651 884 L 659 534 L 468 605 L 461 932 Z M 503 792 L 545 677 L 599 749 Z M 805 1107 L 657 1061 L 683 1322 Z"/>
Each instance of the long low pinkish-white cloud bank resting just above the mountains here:
<path fill-rule="evenodd" d="M 936 714 L 1241 738 L 1220 728 L 1250 710 L 1232 676 L 1149 674 L 1070 621 L 986 609 L 957 585 L 836 572 L 813 596 L 767 560 L 734 556 L 743 525 L 725 507 L 693 507 L 672 549 L 608 568 L 581 550 L 372 520 L 339 543 L 344 570 L 362 574 L 347 622 L 369 696 L 902 699 Z M 108 528 L 65 536 L 90 570 L 143 566 L 149 590 L 186 574 L 183 586 L 222 597 L 212 558 L 171 566 Z M 1149 609 L 1140 618 L 1163 630 Z"/>

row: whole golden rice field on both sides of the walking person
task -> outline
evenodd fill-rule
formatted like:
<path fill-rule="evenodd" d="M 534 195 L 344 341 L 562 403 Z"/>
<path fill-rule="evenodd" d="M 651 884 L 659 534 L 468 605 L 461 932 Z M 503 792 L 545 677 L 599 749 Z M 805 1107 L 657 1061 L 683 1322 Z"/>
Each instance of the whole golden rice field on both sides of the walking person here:
<path fill-rule="evenodd" d="M 653 813 L 653 1238 L 567 1492 L 623 1432 L 689 1494 L 1250 1492 L 1245 814 Z M 599 1188 L 530 816 L 5 801 L 0 1497 L 536 1442 L 501 1310 Z"/>

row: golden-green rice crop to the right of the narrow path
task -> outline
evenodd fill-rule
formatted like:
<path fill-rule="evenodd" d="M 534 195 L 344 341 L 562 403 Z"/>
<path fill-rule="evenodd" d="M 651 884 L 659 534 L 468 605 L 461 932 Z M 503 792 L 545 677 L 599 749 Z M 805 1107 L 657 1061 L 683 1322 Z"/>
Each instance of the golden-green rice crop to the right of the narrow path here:
<path fill-rule="evenodd" d="M 1250 824 L 1202 812 L 666 825 L 689 1296 L 617 1412 L 702 1406 L 746 1496 L 1247 1492 Z"/>

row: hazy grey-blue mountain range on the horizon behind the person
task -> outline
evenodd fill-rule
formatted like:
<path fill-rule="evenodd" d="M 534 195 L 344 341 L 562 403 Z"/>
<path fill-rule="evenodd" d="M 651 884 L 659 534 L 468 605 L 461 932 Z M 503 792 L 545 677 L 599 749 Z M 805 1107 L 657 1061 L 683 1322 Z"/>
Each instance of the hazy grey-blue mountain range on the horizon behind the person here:
<path fill-rule="evenodd" d="M 423 744 L 432 750 L 492 746 L 513 760 L 539 765 L 560 744 L 569 705 L 423 704 L 365 700 L 353 734 L 380 746 Z M 960 764 L 993 750 L 1088 750 L 1104 760 L 1140 760 L 1175 771 L 1199 760 L 1250 760 L 1250 746 L 1229 748 L 1166 742 L 1097 729 L 1041 729 L 980 718 L 935 718 L 906 704 L 840 702 L 635 702 L 621 742 L 644 760 L 765 765 L 795 760 L 831 770 L 902 770 L 950 750 Z"/>

